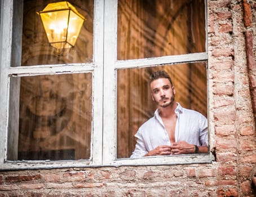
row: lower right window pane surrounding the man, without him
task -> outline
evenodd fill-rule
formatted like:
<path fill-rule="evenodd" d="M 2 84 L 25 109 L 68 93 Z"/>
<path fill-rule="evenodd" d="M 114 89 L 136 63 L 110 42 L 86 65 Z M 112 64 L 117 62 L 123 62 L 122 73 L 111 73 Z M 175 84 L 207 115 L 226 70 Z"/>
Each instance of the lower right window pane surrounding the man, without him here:
<path fill-rule="evenodd" d="M 157 108 L 152 101 L 149 76 L 157 70 L 170 74 L 175 100 L 183 108 L 207 117 L 206 62 L 117 70 L 117 158 L 129 158 L 136 144 L 138 128 Z"/>

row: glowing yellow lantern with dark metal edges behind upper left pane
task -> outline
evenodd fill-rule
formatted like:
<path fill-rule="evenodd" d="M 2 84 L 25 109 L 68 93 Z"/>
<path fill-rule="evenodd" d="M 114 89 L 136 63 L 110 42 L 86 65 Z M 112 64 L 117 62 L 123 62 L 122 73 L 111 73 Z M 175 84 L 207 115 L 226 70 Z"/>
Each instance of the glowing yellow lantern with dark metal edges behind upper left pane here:
<path fill-rule="evenodd" d="M 74 46 L 86 20 L 68 1 L 49 3 L 37 14 L 41 17 L 48 42 L 57 51 Z"/>

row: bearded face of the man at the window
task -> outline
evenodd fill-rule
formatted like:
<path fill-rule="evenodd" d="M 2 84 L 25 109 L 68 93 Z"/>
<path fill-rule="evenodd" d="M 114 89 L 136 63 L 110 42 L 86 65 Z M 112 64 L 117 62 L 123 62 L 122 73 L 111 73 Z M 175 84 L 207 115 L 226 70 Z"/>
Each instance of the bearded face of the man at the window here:
<path fill-rule="evenodd" d="M 171 105 L 175 99 L 175 88 L 166 78 L 153 80 L 150 84 L 152 99 L 158 106 L 166 108 Z"/>

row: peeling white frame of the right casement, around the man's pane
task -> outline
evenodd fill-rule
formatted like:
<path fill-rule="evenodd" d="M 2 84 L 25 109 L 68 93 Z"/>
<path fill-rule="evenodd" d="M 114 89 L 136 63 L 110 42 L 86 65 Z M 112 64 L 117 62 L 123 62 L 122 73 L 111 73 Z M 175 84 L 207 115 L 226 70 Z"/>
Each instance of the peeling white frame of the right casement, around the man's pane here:
<path fill-rule="evenodd" d="M 211 163 L 214 156 L 208 154 L 189 154 L 175 156 L 148 156 L 143 158 L 117 159 L 117 69 L 143 68 L 155 65 L 178 64 L 193 61 L 207 61 L 208 51 L 190 53 L 186 55 L 162 56 L 137 60 L 117 60 L 117 6 L 118 0 L 105 3 L 104 14 L 104 88 L 103 88 L 103 164 L 104 165 L 160 165 L 160 164 L 189 164 L 189 163 Z M 205 5 L 206 4 L 205 0 Z M 205 19 L 206 19 L 205 6 Z M 207 20 L 206 20 L 207 21 Z M 207 25 L 206 25 L 207 26 Z M 207 32 L 207 30 L 205 31 Z M 206 34 L 207 40 L 207 34 Z M 114 50 L 109 50 L 112 46 Z M 112 87 L 112 88 L 109 88 Z M 209 122 L 209 120 L 208 120 Z M 210 128 L 209 133 L 210 133 Z M 211 139 L 209 138 L 211 145 Z"/>

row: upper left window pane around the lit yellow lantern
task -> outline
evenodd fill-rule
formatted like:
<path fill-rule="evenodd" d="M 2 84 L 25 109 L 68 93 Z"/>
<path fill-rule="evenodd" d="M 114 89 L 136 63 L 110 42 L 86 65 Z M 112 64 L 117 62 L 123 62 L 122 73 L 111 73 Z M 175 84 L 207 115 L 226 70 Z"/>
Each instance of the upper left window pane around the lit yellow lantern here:
<path fill-rule="evenodd" d="M 53 44 L 55 46 L 60 46 L 58 49 L 51 46 L 48 42 L 42 21 L 37 14 L 37 12 L 42 11 L 48 3 L 53 2 L 56 1 L 24 0 L 23 4 L 17 0 L 14 1 L 12 66 L 86 63 L 93 61 L 94 0 L 68 1 L 83 17 L 85 17 L 86 20 L 83 22 L 81 32 L 77 37 L 74 47 L 64 48 L 61 47 L 64 46 L 64 44 Z M 73 12 L 70 13 L 72 14 Z M 71 14 L 70 16 L 74 16 Z M 56 29 L 58 28 L 58 25 L 56 24 L 54 25 L 55 30 L 52 29 L 52 32 L 50 33 L 51 36 L 54 38 L 59 37 L 62 41 L 65 37 L 69 38 L 69 31 L 76 29 L 72 29 L 72 26 L 70 26 L 73 19 L 74 17 L 69 21 L 67 36 L 61 34 L 61 31 L 63 32 L 65 29 L 67 30 L 67 28 Z M 78 17 L 78 19 L 81 18 Z"/>

